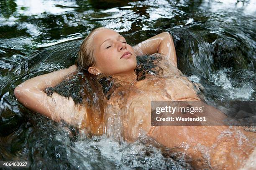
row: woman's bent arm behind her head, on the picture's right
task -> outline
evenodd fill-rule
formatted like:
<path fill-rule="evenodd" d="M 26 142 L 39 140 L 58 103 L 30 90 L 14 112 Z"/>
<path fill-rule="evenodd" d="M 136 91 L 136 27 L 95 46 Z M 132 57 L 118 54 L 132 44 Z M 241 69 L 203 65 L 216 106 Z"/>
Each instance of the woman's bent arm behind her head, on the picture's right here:
<path fill-rule="evenodd" d="M 133 47 L 137 56 L 161 53 L 166 55 L 177 67 L 177 57 L 172 36 L 168 32 L 162 32 Z"/>

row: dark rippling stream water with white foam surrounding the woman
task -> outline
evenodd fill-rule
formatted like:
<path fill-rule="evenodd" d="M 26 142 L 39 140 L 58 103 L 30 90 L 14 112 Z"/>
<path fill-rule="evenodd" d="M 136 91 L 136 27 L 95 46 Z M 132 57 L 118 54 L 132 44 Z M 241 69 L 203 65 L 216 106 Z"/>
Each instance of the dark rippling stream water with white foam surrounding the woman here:
<path fill-rule="evenodd" d="M 185 155 L 142 137 L 120 143 L 87 138 L 20 105 L 21 82 L 74 64 L 79 45 L 104 26 L 136 45 L 174 37 L 178 67 L 200 82 L 207 103 L 256 100 L 253 0 L 0 0 L 0 160 L 31 169 L 189 169 Z"/>

